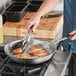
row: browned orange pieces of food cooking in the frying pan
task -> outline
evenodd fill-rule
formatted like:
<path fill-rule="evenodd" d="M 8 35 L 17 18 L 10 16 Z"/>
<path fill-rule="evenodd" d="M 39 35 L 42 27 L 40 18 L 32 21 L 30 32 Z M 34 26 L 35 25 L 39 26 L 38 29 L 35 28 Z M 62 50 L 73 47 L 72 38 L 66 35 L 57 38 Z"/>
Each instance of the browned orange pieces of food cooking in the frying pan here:
<path fill-rule="evenodd" d="M 21 48 L 18 48 L 13 51 L 13 53 L 19 53 L 21 52 Z M 43 56 L 47 56 L 48 52 L 46 50 L 43 50 L 42 47 L 39 46 L 33 46 L 29 49 L 29 53 L 21 53 L 21 54 L 15 54 L 14 57 L 18 58 L 39 58 Z"/>

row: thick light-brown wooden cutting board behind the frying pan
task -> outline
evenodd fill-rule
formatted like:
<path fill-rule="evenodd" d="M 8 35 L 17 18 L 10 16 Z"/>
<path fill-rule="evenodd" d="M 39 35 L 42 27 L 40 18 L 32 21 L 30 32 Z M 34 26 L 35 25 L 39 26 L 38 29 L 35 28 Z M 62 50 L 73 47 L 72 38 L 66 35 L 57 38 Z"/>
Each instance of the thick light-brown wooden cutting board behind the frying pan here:
<path fill-rule="evenodd" d="M 27 19 L 30 18 L 33 14 L 35 14 L 35 12 L 28 12 L 20 22 L 5 22 L 4 35 L 24 36 L 27 32 Z M 33 33 L 33 37 L 54 39 L 62 25 L 63 16 L 54 18 L 41 18 L 37 30 Z"/>

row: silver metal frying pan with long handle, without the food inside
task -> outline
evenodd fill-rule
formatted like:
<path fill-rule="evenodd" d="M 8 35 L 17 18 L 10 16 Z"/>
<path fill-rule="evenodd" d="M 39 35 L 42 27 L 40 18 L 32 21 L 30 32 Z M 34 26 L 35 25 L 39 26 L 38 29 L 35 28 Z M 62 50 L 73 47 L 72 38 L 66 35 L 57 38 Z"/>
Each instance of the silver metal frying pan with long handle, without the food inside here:
<path fill-rule="evenodd" d="M 68 38 L 70 38 L 70 36 L 61 38 L 57 43 L 59 43 L 63 40 L 66 40 Z M 32 59 L 16 58 L 16 57 L 12 56 L 11 53 L 13 52 L 13 50 L 21 47 L 21 45 L 22 45 L 21 40 L 11 42 L 11 43 L 9 43 L 5 46 L 4 51 L 11 59 L 15 60 L 16 62 L 29 63 L 29 64 L 40 64 L 40 63 L 43 63 L 45 61 L 48 61 L 57 52 L 56 47 L 55 47 L 56 44 L 49 43 L 49 42 L 46 42 L 46 41 L 40 41 L 40 40 L 32 39 L 32 40 L 30 40 L 30 43 L 28 45 L 27 50 L 29 50 L 29 48 L 32 47 L 32 46 L 40 46 L 44 50 L 48 51 L 49 55 L 44 56 L 44 57 L 40 57 L 40 58 L 32 58 Z"/>

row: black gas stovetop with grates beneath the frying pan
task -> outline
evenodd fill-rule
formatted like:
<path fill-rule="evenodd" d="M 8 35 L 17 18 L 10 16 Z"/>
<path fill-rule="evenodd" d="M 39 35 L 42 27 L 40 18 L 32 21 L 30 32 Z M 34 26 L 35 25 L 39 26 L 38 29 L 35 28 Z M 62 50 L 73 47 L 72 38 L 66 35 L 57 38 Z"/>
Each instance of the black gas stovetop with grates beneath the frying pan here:
<path fill-rule="evenodd" d="M 44 76 L 51 60 L 42 64 L 20 64 L 11 60 L 0 46 L 0 76 Z"/>

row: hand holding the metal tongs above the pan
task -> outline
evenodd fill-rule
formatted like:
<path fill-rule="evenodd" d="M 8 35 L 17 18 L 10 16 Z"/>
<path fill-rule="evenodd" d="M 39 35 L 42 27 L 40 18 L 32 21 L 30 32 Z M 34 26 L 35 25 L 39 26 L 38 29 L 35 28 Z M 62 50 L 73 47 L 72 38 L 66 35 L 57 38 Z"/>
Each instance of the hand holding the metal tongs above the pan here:
<path fill-rule="evenodd" d="M 35 31 L 39 22 L 40 22 L 40 16 L 33 15 L 29 20 L 27 20 L 27 25 L 28 25 L 27 29 L 33 26 L 33 31 Z"/>

